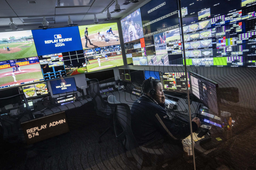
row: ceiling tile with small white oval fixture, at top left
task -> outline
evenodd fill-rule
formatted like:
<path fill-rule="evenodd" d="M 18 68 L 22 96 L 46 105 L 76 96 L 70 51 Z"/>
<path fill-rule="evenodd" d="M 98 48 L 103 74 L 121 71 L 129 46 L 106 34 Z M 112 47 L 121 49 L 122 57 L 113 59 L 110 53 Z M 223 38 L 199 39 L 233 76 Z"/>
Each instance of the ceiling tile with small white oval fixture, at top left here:
<path fill-rule="evenodd" d="M 28 4 L 26 0 L 6 0 L 13 9 L 38 9 L 38 8 L 54 8 L 56 1 L 54 0 L 35 0 L 36 4 Z M 28 11 L 29 12 L 29 11 Z"/>

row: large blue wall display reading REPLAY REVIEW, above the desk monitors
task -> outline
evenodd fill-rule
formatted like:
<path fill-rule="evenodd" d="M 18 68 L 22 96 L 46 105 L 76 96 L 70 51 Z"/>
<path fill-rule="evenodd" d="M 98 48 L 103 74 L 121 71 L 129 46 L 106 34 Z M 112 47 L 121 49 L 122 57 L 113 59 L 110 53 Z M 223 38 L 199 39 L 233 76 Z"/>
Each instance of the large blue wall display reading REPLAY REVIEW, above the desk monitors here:
<path fill-rule="evenodd" d="M 39 56 L 82 50 L 78 27 L 32 30 Z"/>

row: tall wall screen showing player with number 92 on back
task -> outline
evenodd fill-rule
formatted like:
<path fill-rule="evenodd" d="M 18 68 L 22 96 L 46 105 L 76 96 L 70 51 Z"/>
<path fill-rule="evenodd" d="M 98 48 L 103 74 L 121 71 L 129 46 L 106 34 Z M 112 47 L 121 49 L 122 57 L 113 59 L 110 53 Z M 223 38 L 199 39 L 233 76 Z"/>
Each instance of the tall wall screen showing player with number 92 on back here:
<path fill-rule="evenodd" d="M 121 20 L 124 43 L 143 38 L 140 8 Z"/>

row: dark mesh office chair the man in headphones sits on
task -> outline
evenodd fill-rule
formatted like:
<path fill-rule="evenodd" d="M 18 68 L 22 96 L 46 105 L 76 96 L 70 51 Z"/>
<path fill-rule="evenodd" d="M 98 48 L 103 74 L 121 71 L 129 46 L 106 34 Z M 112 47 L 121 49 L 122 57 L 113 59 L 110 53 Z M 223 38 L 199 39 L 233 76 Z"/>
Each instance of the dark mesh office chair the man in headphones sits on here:
<path fill-rule="evenodd" d="M 118 141 L 122 143 L 127 157 L 134 158 L 139 169 L 141 169 L 142 166 L 156 166 L 156 163 L 160 161 L 159 158 L 164 151 L 162 149 L 151 149 L 139 146 L 131 130 L 131 111 L 129 105 L 120 103 L 113 95 L 110 95 L 107 101 L 111 105 L 114 105 L 114 131 Z M 117 122 L 122 127 L 122 132 L 119 134 Z M 146 164 L 146 158 L 150 158 L 150 161 L 147 161 L 150 163 L 153 158 L 153 164 Z"/>

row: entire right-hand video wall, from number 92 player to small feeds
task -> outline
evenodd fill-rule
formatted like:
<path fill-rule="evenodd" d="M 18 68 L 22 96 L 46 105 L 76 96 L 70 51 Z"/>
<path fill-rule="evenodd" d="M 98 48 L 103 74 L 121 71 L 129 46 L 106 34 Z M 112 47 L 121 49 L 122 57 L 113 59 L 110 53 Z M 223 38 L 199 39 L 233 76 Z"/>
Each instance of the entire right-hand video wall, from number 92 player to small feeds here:
<path fill-rule="evenodd" d="M 181 1 L 186 64 L 256 67 L 255 5 L 254 0 Z M 141 22 L 138 20 L 139 12 Z M 128 64 L 184 64 L 177 2 L 150 1 L 122 19 L 121 24 Z M 125 38 L 129 35 L 127 30 L 130 26 L 134 25 L 138 32 L 141 24 L 144 49 L 136 46 L 139 38 L 133 41 L 129 41 L 129 36 Z"/>

